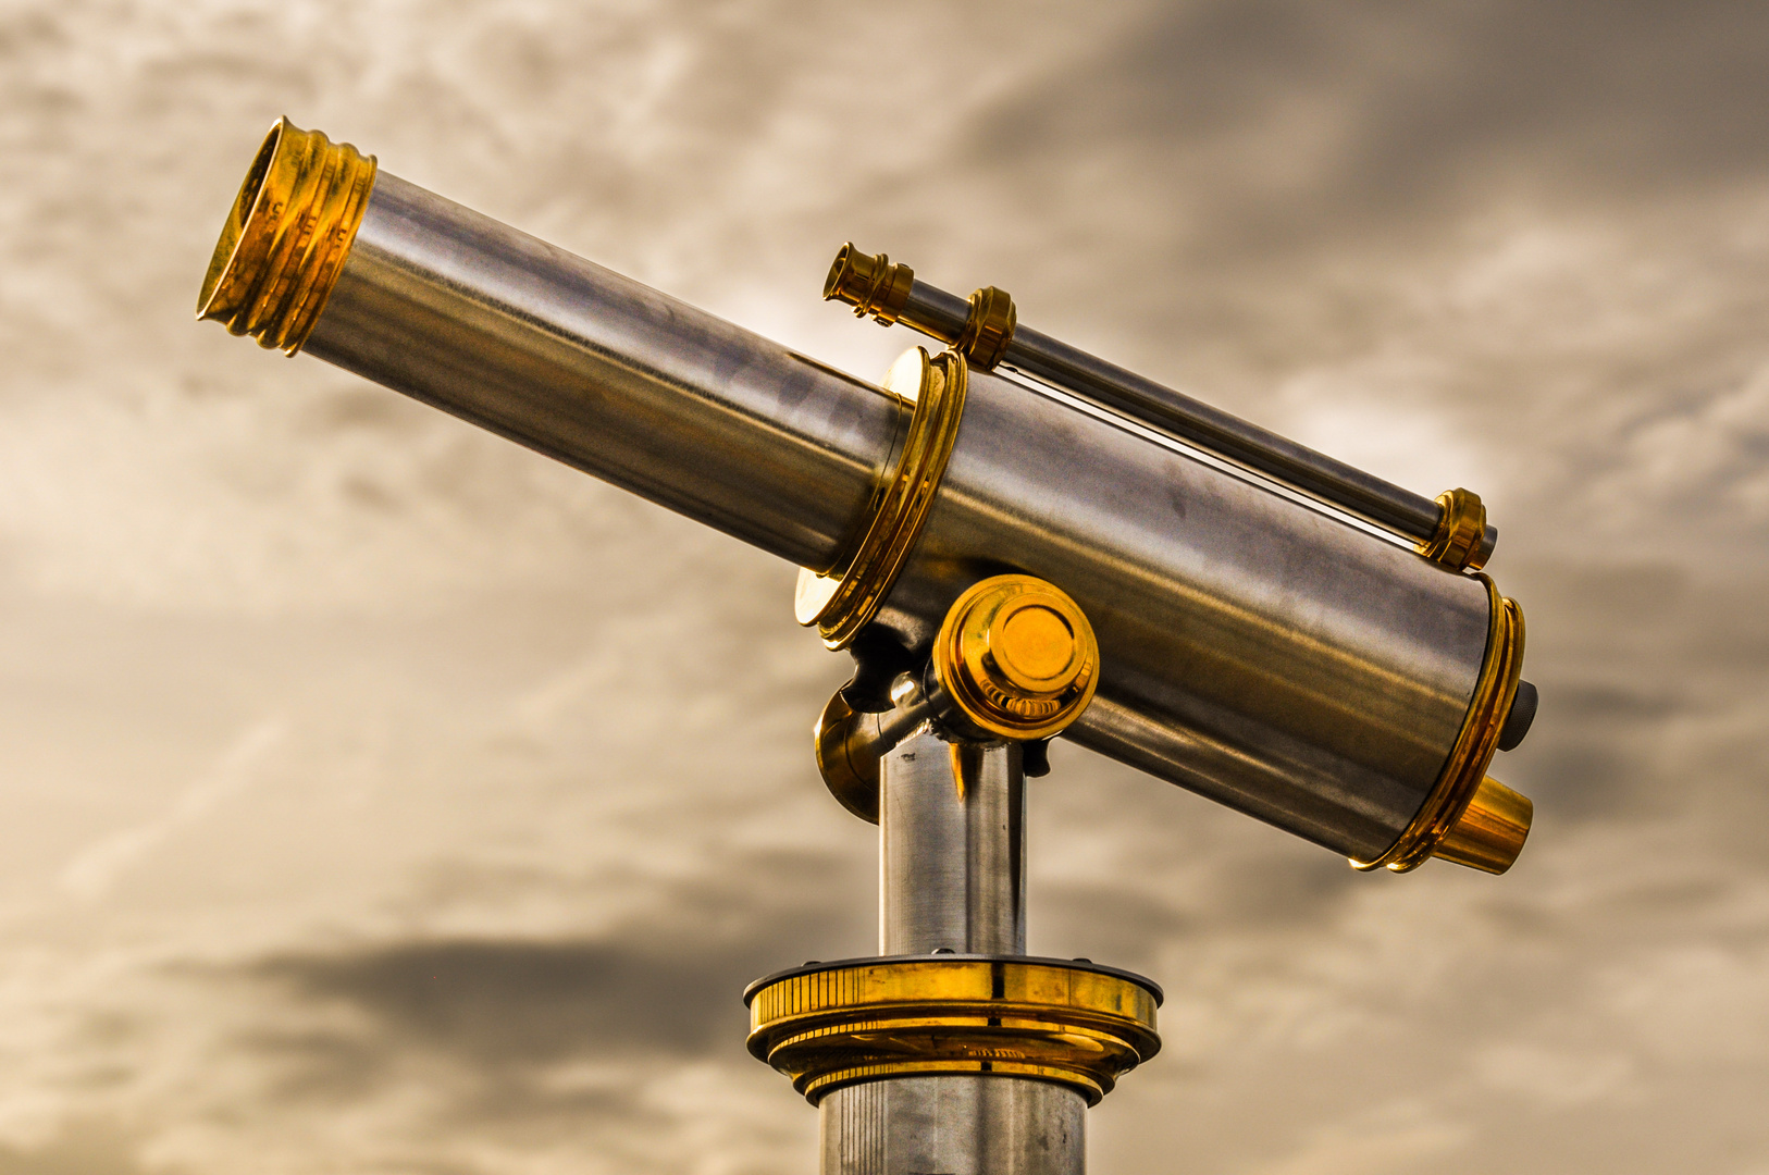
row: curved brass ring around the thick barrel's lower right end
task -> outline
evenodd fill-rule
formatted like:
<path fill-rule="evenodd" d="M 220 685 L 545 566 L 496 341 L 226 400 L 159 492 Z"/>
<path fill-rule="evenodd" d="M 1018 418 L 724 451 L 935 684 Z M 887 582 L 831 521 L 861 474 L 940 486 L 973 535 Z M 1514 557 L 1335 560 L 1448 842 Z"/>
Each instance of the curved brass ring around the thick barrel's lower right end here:
<path fill-rule="evenodd" d="M 1516 600 L 1498 595 L 1498 588 L 1486 575 L 1477 575 L 1486 584 L 1486 593 L 1493 609 L 1493 623 L 1486 634 L 1486 657 L 1481 662 L 1481 676 L 1474 687 L 1474 701 L 1468 704 L 1468 717 L 1463 718 L 1456 745 L 1444 763 L 1436 786 L 1421 805 L 1419 814 L 1401 832 L 1399 839 L 1387 853 L 1376 860 L 1352 860 L 1355 869 L 1392 869 L 1406 872 L 1429 860 L 1452 828 L 1456 828 L 1470 800 L 1486 779 L 1486 768 L 1498 750 L 1498 731 L 1511 713 L 1511 703 L 1518 695 L 1518 678 L 1523 672 L 1523 609 Z M 1505 789 L 1509 791 L 1509 787 Z M 1514 795 L 1514 793 L 1512 793 Z M 1527 832 L 1527 830 L 1525 830 Z M 1516 849 L 1521 849 L 1521 839 Z M 1516 853 L 1512 853 L 1512 858 Z M 1454 858 L 1452 858 L 1454 860 Z M 1463 862 L 1467 864 L 1467 862 Z M 1509 862 L 1505 862 L 1509 867 Z M 1504 869 L 1488 872 L 1504 872 Z"/>

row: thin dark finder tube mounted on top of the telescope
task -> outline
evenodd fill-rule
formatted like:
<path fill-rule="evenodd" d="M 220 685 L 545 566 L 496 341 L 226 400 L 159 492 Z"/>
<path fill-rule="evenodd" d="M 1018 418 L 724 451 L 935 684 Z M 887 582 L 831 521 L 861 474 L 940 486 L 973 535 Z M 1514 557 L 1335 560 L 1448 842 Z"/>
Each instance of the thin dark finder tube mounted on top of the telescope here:
<path fill-rule="evenodd" d="M 915 271 L 907 265 L 893 265 L 886 257 L 870 257 L 846 244 L 830 269 L 824 297 L 840 299 L 854 306 L 860 315 L 870 313 L 884 324 L 900 322 L 955 345 L 978 366 L 999 365 L 1054 384 L 1083 400 L 1256 469 L 1415 543 L 1431 541 L 1438 531 L 1444 511 L 1429 497 L 1040 334 L 1019 324 L 1012 299 L 992 287 L 978 290 L 968 301 L 915 278 Z M 991 311 L 998 319 L 994 338 L 989 326 L 980 322 L 980 317 Z M 969 338 L 976 340 L 976 347 L 968 345 Z M 984 349 L 992 349 L 992 361 Z M 1498 531 L 1486 527 L 1481 552 L 1472 566 L 1481 566 L 1497 541 Z"/>

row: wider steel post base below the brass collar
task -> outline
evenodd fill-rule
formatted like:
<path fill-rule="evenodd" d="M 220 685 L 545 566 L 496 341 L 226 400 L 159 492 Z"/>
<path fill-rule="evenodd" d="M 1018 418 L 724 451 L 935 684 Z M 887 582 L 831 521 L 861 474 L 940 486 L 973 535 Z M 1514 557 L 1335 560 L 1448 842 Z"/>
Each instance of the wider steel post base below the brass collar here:
<path fill-rule="evenodd" d="M 1086 1102 L 1051 1081 L 867 1081 L 817 1106 L 823 1175 L 1081 1175 Z"/>

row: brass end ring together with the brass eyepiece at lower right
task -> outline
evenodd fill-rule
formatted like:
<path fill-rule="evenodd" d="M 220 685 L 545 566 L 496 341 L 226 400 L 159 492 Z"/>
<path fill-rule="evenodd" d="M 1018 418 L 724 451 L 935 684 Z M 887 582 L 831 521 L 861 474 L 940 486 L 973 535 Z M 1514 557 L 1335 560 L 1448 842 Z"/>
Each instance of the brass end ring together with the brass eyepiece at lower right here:
<path fill-rule="evenodd" d="M 1482 872 L 1504 872 L 1530 835 L 1534 805 L 1486 777 L 1523 672 L 1523 609 L 1516 600 L 1500 596 L 1486 575 L 1477 579 L 1486 584 L 1493 621 L 1461 734 L 1431 795 L 1399 839 L 1376 860 L 1353 860 L 1355 869 L 1406 872 L 1442 856 Z"/>

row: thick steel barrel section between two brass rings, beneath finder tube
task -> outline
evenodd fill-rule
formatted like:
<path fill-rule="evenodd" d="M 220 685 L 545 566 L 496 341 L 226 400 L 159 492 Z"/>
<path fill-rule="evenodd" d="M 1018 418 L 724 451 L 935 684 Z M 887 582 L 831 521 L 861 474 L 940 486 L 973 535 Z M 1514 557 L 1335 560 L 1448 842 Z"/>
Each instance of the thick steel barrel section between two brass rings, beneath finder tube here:
<path fill-rule="evenodd" d="M 1100 646 L 1067 736 L 1373 860 L 1424 803 L 1486 651 L 1486 586 L 971 372 L 922 543 L 881 611 L 907 642 L 984 575 L 1081 605 Z"/>

